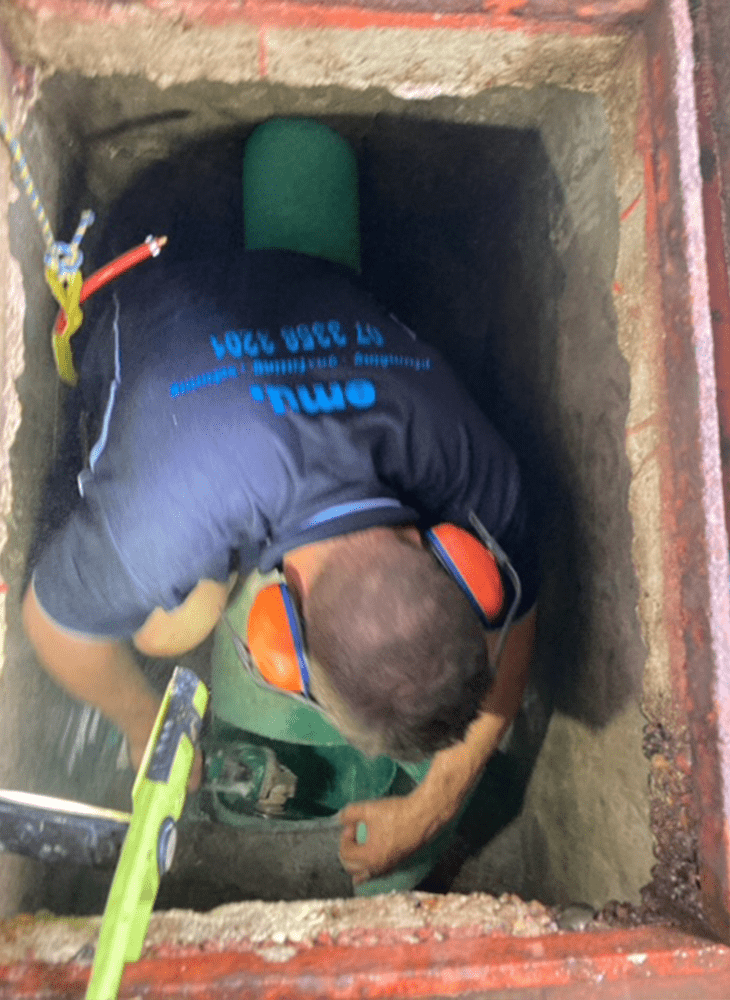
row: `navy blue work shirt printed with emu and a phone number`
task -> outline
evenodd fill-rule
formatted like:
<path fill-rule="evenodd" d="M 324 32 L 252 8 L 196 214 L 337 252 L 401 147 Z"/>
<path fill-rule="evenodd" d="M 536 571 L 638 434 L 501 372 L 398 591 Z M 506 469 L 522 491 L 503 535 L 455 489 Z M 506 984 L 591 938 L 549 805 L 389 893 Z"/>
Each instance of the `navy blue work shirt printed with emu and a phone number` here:
<path fill-rule="evenodd" d="M 237 554 L 470 511 L 535 597 L 512 451 L 431 347 L 343 268 L 283 251 L 149 263 L 120 279 L 81 367 L 99 414 L 78 505 L 42 553 L 61 626 L 131 637 Z"/>

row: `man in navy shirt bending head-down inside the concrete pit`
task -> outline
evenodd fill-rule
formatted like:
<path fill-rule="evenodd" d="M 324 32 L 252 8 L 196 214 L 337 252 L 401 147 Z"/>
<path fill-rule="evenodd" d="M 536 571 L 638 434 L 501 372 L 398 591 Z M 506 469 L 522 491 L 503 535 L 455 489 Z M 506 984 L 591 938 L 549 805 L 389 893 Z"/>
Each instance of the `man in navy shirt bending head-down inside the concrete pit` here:
<path fill-rule="evenodd" d="M 80 374 L 97 436 L 23 618 L 48 672 L 121 729 L 138 766 L 160 699 L 132 647 L 195 648 L 237 575 L 279 567 L 311 697 L 366 755 L 431 758 L 410 794 L 342 810 L 358 885 L 453 822 L 513 720 L 534 643 L 534 544 L 510 448 L 358 283 L 344 140 L 308 120 L 259 126 L 244 210 L 236 259 L 163 255 L 116 282 L 92 321 Z M 442 522 L 471 530 L 472 515 L 521 580 L 495 676 L 492 635 L 424 541 Z M 201 770 L 198 756 L 191 787 Z"/>

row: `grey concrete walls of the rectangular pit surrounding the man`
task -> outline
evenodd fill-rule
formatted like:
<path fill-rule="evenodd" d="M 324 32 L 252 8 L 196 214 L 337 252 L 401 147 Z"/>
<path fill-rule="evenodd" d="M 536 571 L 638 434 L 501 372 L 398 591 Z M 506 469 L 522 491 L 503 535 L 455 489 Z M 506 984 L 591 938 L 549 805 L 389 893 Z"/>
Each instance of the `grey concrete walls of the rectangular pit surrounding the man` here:
<path fill-rule="evenodd" d="M 524 806 L 461 867 L 454 888 L 597 908 L 638 903 L 654 861 L 642 704 L 650 720 L 673 723 L 661 322 L 637 152 L 638 40 L 468 27 L 217 29 L 141 8 L 98 21 L 7 8 L 2 16 L 16 66 L 26 67 L 16 70 L 25 93 L 16 90 L 12 106 L 27 112 L 22 138 L 37 185 L 60 237 L 69 238 L 81 208 L 97 211 L 87 238 L 96 263 L 110 256 L 102 233 L 125 191 L 130 211 L 109 230 L 115 250 L 155 230 L 189 239 L 190 220 L 173 218 L 176 199 L 201 245 L 214 238 L 211 219 L 227 219 L 225 238 L 235 240 L 240 148 L 256 121 L 317 115 L 353 141 L 366 280 L 444 351 L 525 451 L 543 501 L 539 651 L 531 707 L 507 762 L 511 780 L 527 781 Z M 112 736 L 59 698 L 18 625 L 38 513 L 50 525 L 63 509 L 65 487 L 54 486 L 49 504 L 44 480 L 58 465 L 67 404 L 47 346 L 54 309 L 41 245 L 22 197 L 8 219 L 9 273 L 19 261 L 23 281 L 22 290 L 11 285 L 6 329 L 6 447 L 16 412 L 10 375 L 19 374 L 22 419 L 2 563 L 10 588 L 2 781 L 111 804 L 128 776 L 98 787 L 89 762 L 112 754 Z M 71 460 L 54 483 L 71 481 Z M 196 843 L 198 862 L 228 871 L 220 836 Z M 246 865 L 207 886 L 210 902 L 347 891 L 333 834 L 282 843 L 247 839 Z M 183 848 L 178 886 L 187 864 Z M 73 876 L 13 859 L 2 859 L 3 878 L 8 913 L 49 901 L 63 910 L 80 891 Z M 195 903 L 195 893 L 186 900 Z"/>

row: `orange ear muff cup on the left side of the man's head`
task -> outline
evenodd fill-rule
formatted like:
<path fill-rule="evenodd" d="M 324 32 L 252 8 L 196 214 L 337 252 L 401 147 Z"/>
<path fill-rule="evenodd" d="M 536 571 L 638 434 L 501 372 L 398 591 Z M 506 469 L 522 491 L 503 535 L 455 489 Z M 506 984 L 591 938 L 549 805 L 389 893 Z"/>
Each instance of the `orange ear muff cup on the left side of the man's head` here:
<path fill-rule="evenodd" d="M 309 695 L 304 638 L 286 584 L 272 584 L 256 595 L 248 616 L 248 648 L 269 684 Z"/>

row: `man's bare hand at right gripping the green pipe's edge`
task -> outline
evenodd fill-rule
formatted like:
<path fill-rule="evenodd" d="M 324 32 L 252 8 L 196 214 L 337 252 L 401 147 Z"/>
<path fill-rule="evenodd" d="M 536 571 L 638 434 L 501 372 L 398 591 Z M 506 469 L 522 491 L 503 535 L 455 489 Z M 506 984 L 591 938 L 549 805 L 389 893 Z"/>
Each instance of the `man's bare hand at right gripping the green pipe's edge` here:
<path fill-rule="evenodd" d="M 353 802 L 340 813 L 340 822 L 340 861 L 353 885 L 385 875 L 438 832 L 413 795 Z M 359 838 L 364 843 L 358 842 L 358 827 L 366 832 Z"/>

